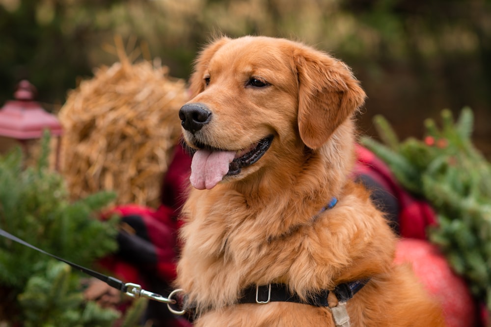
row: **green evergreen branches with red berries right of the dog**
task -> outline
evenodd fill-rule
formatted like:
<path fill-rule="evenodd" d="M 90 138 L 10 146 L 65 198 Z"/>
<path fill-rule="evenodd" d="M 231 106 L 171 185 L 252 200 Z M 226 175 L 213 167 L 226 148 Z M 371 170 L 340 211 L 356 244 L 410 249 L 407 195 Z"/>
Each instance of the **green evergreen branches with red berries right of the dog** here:
<path fill-rule="evenodd" d="M 430 240 L 491 309 L 491 164 L 472 144 L 470 108 L 462 110 L 457 122 L 450 110 L 443 110 L 441 117 L 441 128 L 431 119 L 425 121 L 423 141 L 398 142 L 379 116 L 375 123 L 385 145 L 370 138 L 361 141 L 407 190 L 436 209 L 438 226 L 430 228 Z"/>

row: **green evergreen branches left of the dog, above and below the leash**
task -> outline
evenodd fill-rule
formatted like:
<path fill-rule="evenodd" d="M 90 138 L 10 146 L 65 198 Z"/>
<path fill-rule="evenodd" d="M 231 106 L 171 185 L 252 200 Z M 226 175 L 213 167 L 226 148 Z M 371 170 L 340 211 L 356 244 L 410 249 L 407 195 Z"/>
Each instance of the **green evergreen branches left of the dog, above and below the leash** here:
<path fill-rule="evenodd" d="M 0 228 L 46 252 L 91 266 L 117 249 L 116 218 L 97 219 L 98 210 L 115 195 L 101 192 L 70 202 L 63 178 L 47 168 L 48 142 L 45 137 L 35 167 L 23 167 L 20 149 L 0 157 Z M 0 290 L 7 293 L 5 299 L 18 299 L 14 306 L 20 311 L 0 321 L 21 321 L 26 327 L 110 326 L 117 316 L 83 301 L 78 272 L 4 238 L 0 238 Z"/>

